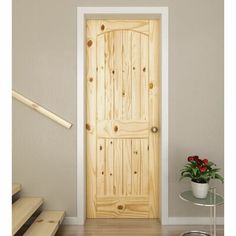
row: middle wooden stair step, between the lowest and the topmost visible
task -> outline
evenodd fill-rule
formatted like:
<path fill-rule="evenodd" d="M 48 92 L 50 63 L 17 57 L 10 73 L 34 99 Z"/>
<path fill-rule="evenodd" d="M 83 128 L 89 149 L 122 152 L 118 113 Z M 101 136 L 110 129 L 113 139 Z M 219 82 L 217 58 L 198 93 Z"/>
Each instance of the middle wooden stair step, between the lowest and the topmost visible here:
<path fill-rule="evenodd" d="M 42 198 L 24 197 L 12 205 L 12 234 L 25 224 L 33 213 L 43 204 Z"/>

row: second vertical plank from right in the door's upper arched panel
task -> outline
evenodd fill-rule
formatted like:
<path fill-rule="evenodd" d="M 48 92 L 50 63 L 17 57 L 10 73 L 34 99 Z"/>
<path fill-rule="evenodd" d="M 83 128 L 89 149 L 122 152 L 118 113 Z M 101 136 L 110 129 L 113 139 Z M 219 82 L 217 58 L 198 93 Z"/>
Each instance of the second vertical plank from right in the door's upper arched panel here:
<path fill-rule="evenodd" d="M 132 118 L 140 119 L 140 33 L 132 32 Z"/>

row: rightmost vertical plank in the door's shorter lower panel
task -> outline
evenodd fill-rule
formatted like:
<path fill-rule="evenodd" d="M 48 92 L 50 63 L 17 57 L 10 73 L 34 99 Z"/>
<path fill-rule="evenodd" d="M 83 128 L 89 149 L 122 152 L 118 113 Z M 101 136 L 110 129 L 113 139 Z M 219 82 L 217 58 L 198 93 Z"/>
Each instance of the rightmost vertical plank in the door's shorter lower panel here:
<path fill-rule="evenodd" d="M 141 195 L 148 195 L 148 139 L 141 139 Z"/>

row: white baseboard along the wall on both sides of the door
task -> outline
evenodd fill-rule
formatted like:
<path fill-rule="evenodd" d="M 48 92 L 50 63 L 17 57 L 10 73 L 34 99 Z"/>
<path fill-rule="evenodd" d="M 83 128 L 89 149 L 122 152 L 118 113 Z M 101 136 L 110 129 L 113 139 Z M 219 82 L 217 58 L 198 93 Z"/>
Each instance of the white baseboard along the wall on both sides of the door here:
<path fill-rule="evenodd" d="M 64 225 L 83 225 L 79 217 L 66 217 L 63 221 Z M 210 224 L 209 217 L 169 217 L 167 225 L 208 225 Z M 217 225 L 224 225 L 224 217 L 216 218 Z"/>

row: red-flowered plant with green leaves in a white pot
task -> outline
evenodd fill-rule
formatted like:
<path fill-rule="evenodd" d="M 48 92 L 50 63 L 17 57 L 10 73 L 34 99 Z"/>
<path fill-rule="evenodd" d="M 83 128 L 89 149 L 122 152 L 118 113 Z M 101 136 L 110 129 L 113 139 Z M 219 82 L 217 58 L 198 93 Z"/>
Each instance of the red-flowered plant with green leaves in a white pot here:
<path fill-rule="evenodd" d="M 200 159 L 198 156 L 189 156 L 188 163 L 185 164 L 184 168 L 181 170 L 181 178 L 190 178 L 191 187 L 194 197 L 196 198 L 206 198 L 209 181 L 211 179 L 218 179 L 222 183 L 224 178 L 218 174 L 219 168 L 215 168 L 216 164 L 207 159 Z"/>

